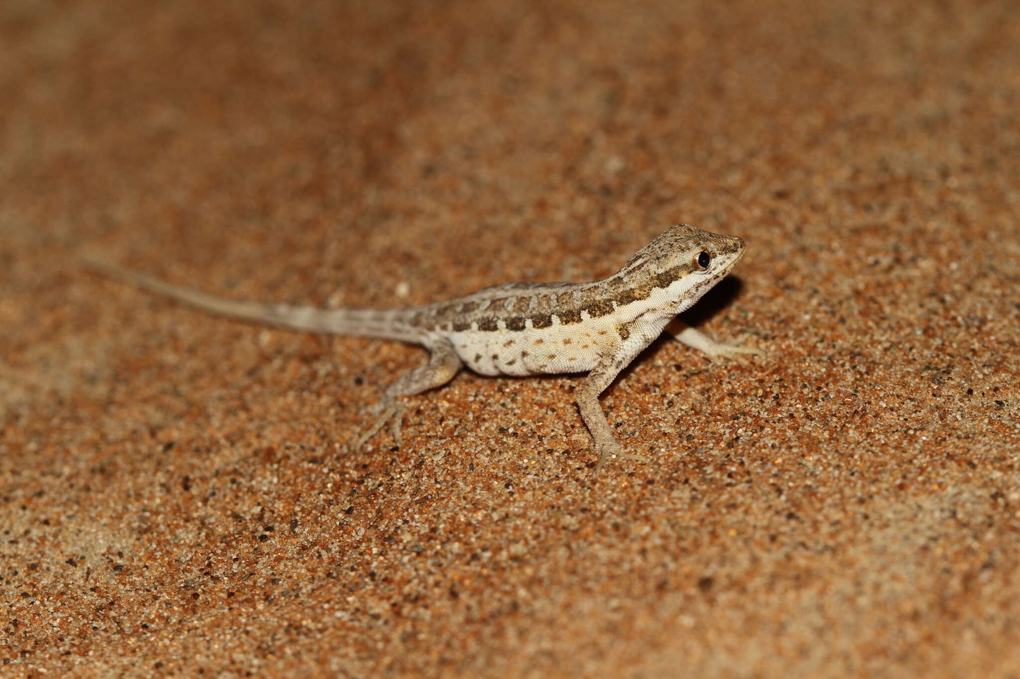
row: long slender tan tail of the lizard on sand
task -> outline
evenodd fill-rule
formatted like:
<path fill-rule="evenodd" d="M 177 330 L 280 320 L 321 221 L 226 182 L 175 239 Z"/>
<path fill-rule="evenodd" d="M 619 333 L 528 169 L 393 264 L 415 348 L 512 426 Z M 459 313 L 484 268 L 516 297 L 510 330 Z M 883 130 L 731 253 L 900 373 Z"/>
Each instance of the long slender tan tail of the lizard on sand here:
<path fill-rule="evenodd" d="M 315 333 L 379 337 L 405 342 L 418 342 L 420 340 L 420 332 L 416 332 L 404 321 L 407 317 L 406 308 L 327 309 L 315 306 L 292 306 L 273 302 L 226 299 L 193 288 L 172 285 L 158 278 L 120 269 L 105 262 L 93 259 L 85 259 L 83 262 L 88 269 L 95 273 L 134 285 L 142 290 L 163 295 L 208 314 Z"/>

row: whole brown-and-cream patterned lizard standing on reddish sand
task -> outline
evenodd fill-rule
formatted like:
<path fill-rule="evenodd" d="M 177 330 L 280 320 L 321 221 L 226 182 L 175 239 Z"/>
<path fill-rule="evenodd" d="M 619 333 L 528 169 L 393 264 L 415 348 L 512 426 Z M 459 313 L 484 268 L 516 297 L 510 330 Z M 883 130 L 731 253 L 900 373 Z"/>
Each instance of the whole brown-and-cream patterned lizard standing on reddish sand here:
<path fill-rule="evenodd" d="M 684 324 L 685 310 L 744 257 L 744 241 L 697 227 L 672 226 L 612 276 L 590 283 L 505 283 L 446 301 L 404 308 L 319 308 L 235 300 L 166 283 L 102 262 L 90 268 L 203 312 L 292 330 L 419 344 L 428 362 L 392 383 L 373 406 L 373 422 L 355 451 L 384 427 L 401 442 L 402 396 L 442 387 L 462 369 L 487 376 L 588 373 L 575 390 L 598 455 L 596 474 L 623 452 L 599 396 L 665 330 L 710 357 L 762 354 L 717 342 Z"/>

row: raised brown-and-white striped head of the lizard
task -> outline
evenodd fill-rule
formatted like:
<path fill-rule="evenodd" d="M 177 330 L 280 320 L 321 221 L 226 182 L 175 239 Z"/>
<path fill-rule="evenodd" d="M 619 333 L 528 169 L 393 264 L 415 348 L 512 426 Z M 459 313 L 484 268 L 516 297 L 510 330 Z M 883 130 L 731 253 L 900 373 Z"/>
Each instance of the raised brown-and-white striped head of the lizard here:
<path fill-rule="evenodd" d="M 638 299 L 670 314 L 687 308 L 721 281 L 744 257 L 744 241 L 679 224 L 630 258 L 617 276 Z"/>

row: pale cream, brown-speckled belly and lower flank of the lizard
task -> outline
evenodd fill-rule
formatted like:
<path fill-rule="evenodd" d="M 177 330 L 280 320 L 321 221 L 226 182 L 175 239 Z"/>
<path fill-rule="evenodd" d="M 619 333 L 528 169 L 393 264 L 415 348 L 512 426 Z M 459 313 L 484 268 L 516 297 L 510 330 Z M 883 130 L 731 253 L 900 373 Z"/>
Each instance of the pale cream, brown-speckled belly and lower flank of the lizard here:
<path fill-rule="evenodd" d="M 599 345 L 613 332 L 590 324 L 516 332 L 468 330 L 450 333 L 449 338 L 464 364 L 481 375 L 582 373 L 595 367 Z"/>

